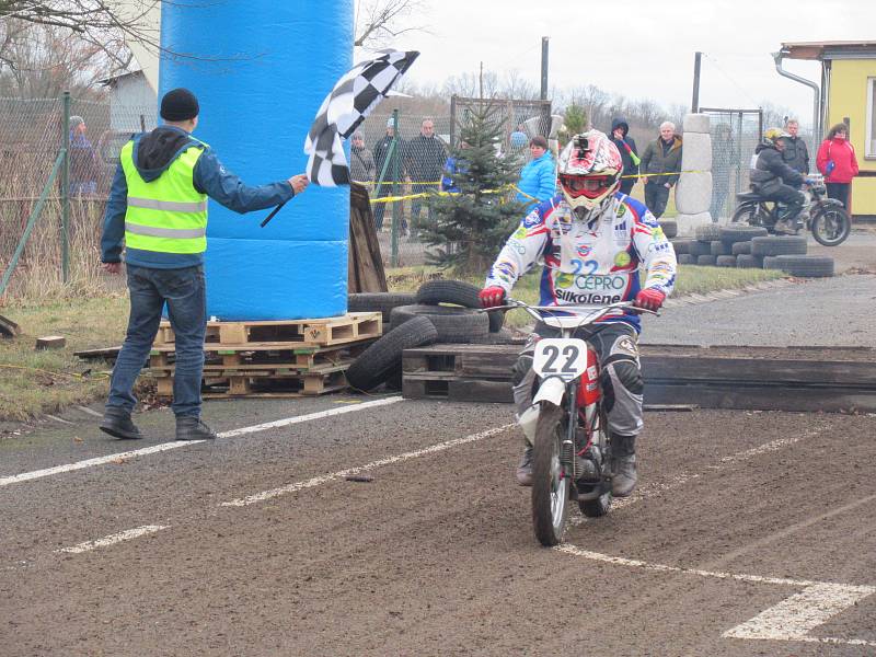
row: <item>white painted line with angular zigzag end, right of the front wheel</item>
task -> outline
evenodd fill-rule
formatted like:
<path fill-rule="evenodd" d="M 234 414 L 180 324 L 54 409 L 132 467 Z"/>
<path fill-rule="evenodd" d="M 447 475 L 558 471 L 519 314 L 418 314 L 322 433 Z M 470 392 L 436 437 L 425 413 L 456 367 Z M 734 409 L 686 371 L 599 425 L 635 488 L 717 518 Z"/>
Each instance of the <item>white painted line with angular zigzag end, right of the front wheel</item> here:
<path fill-rule="evenodd" d="M 833 584 L 827 581 L 812 581 L 809 579 L 789 579 L 785 577 L 763 577 L 760 575 L 742 575 L 701 570 L 699 568 L 682 568 L 664 564 L 600 554 L 589 550 L 581 550 L 576 545 L 557 545 L 554 550 L 574 556 L 581 556 L 590 561 L 641 568 L 655 573 L 679 573 L 682 575 L 696 575 L 716 579 L 731 579 L 753 584 L 782 585 L 803 587 L 804 590 L 771 607 L 750 621 L 737 625 L 725 632 L 725 638 L 752 638 L 769 641 L 800 641 L 807 643 L 843 644 L 855 646 L 876 646 L 876 642 L 857 638 L 832 638 L 809 636 L 807 633 L 828 622 L 841 611 L 853 607 L 867 596 L 876 593 L 874 586 L 858 586 L 851 584 Z"/>

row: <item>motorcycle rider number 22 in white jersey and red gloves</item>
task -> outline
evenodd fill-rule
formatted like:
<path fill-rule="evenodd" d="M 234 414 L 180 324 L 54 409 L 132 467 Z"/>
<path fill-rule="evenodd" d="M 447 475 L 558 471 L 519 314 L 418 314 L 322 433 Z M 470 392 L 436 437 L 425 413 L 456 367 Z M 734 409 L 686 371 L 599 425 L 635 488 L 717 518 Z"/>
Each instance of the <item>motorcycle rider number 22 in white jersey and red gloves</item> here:
<path fill-rule="evenodd" d="M 621 153 L 598 130 L 576 135 L 560 155 L 562 189 L 542 201 L 508 239 L 480 292 L 484 308 L 502 306 L 517 280 L 543 262 L 541 306 L 606 306 L 633 300 L 657 310 L 672 291 L 676 253 L 657 220 L 638 200 L 618 192 Z M 646 279 L 639 284 L 638 270 Z M 638 360 L 638 313 L 624 311 L 599 325 L 580 328 L 602 366 L 611 433 L 612 493 L 630 495 L 636 485 L 636 437 L 642 431 L 643 380 Z M 532 406 L 534 343 L 558 331 L 539 322 L 514 372 L 518 417 Z M 517 481 L 532 485 L 532 446 L 527 441 Z"/>

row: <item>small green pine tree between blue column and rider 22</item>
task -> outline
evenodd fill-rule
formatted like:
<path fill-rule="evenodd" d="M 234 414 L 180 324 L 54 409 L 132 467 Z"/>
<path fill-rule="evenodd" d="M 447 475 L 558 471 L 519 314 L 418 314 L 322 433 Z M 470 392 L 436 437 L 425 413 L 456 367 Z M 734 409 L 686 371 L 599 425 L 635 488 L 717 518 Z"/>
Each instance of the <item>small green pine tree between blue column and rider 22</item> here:
<path fill-rule="evenodd" d="M 510 188 L 522 162 L 498 154 L 504 136 L 499 116 L 499 107 L 488 101 L 471 110 L 451 150 L 459 193 L 430 196 L 430 218 L 418 227 L 431 247 L 428 263 L 459 275 L 485 274 L 526 212 Z"/>

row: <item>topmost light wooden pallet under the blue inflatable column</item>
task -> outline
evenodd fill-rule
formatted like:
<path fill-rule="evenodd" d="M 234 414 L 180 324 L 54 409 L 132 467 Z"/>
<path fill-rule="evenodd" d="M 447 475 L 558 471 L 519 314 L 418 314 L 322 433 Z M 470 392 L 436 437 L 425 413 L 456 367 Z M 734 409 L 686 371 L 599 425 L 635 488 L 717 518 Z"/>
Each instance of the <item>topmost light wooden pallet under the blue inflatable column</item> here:
<path fill-rule="evenodd" d="M 383 318 L 379 312 L 349 312 L 337 318 L 270 322 L 207 322 L 205 347 L 246 346 L 251 349 L 289 347 L 291 344 L 333 346 L 380 337 Z M 170 322 L 161 322 L 154 349 L 175 347 Z"/>

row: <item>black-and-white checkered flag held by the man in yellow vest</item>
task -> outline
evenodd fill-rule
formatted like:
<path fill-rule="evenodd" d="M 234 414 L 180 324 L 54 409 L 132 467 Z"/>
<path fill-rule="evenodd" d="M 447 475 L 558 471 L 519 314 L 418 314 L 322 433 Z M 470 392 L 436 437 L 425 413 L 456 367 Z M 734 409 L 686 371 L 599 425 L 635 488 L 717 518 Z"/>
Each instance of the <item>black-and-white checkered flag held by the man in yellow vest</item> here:
<path fill-rule="evenodd" d="M 304 140 L 308 177 L 314 185 L 349 184 L 349 168 L 342 139 L 348 138 L 366 116 L 390 94 L 390 89 L 414 64 L 416 50 L 381 50 L 357 64 L 332 89 L 316 113 Z"/>

